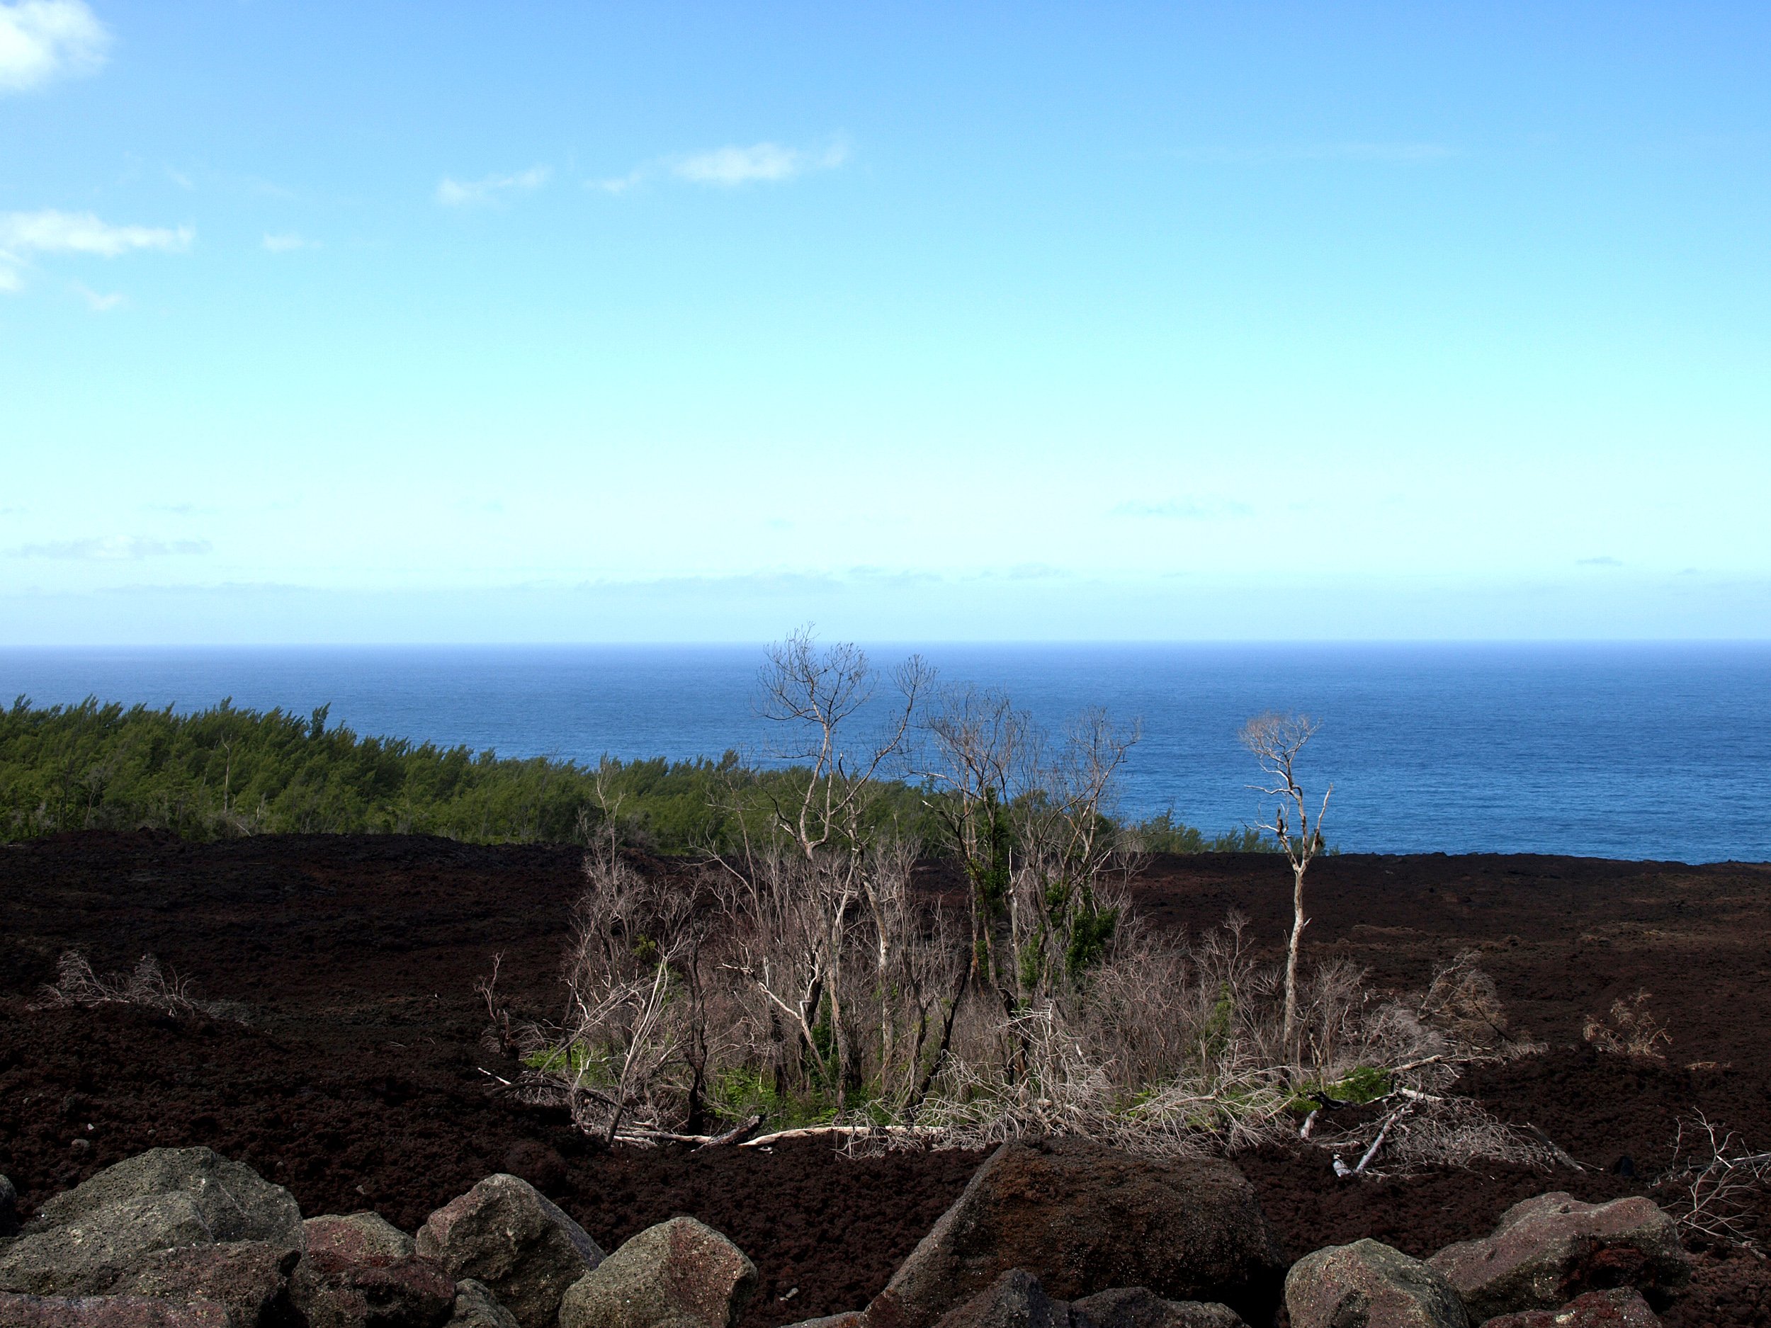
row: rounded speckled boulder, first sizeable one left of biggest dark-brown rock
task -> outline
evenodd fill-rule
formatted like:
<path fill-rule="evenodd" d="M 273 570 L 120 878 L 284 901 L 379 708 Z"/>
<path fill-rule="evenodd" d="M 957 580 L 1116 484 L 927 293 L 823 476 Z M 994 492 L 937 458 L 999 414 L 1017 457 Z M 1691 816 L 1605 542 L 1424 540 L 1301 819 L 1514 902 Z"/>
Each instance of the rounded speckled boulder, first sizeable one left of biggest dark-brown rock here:
<path fill-rule="evenodd" d="M 560 1328 L 730 1328 L 754 1289 L 744 1250 L 694 1218 L 671 1218 L 574 1282 Z"/>

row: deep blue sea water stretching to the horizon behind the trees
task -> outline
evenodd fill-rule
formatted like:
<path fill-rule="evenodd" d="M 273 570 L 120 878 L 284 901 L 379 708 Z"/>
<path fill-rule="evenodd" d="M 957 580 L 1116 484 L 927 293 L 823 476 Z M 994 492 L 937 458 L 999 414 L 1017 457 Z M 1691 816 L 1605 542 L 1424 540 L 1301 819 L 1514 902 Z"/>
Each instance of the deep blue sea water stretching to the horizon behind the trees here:
<path fill-rule="evenodd" d="M 910 653 L 870 650 L 878 664 Z M 1346 852 L 1771 861 L 1771 645 L 932 645 L 1050 728 L 1139 719 L 1121 811 L 1257 815 L 1238 726 L 1303 710 Z M 753 646 L 5 650 L 0 696 L 236 705 L 505 756 L 767 756 Z"/>

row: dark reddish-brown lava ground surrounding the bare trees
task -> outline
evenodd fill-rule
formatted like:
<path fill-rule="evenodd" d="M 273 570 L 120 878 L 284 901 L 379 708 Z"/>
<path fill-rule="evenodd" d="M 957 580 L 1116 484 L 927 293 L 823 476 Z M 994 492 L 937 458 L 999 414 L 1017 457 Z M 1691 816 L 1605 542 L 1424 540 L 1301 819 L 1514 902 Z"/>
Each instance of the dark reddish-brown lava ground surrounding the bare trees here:
<path fill-rule="evenodd" d="M 1194 930 L 1238 908 L 1277 944 L 1288 884 L 1272 857 L 1160 859 L 1137 901 Z M 0 1172 L 28 1213 L 143 1147 L 209 1144 L 310 1215 L 374 1208 L 411 1231 L 482 1176 L 515 1170 L 606 1248 L 675 1213 L 724 1231 L 762 1271 L 751 1328 L 862 1305 L 976 1154 L 850 1160 L 804 1142 L 606 1154 L 561 1117 L 489 1096 L 483 1071 L 508 1062 L 480 1046 L 475 979 L 503 954 L 499 988 L 545 1013 L 576 889 L 577 853 L 554 846 L 90 834 L 0 848 Z M 1550 1188 L 1672 1202 L 1647 1186 L 1693 1110 L 1771 1147 L 1771 868 L 1344 855 L 1312 868 L 1311 901 L 1312 953 L 1369 967 L 1378 986 L 1420 988 L 1438 960 L 1479 946 L 1514 1032 L 1550 1050 L 1461 1087 L 1590 1169 L 1337 1181 L 1318 1151 L 1240 1156 L 1293 1255 L 1358 1236 L 1429 1254 Z M 151 951 L 198 995 L 244 1002 L 250 1025 L 32 1009 L 69 947 L 99 970 Z M 1587 1015 L 1638 990 L 1672 1032 L 1667 1057 L 1590 1050 Z M 1771 1206 L 1753 1222 L 1771 1241 Z M 1771 1324 L 1771 1273 L 1705 1250 L 1667 1321 Z"/>

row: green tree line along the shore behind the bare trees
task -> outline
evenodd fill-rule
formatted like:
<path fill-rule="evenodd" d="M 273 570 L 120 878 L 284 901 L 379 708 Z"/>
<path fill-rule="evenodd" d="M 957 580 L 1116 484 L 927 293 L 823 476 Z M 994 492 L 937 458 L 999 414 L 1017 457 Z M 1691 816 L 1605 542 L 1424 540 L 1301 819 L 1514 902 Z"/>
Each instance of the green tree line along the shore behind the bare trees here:
<path fill-rule="evenodd" d="M 0 841 L 64 830 L 437 834 L 471 843 L 570 843 L 618 822 L 623 839 L 680 853 L 730 846 L 793 802 L 799 768 L 545 756 L 360 737 L 310 715 L 230 701 L 177 714 L 94 698 L 0 710 Z M 933 841 L 928 793 L 889 783 L 868 815 Z M 1252 832 L 1208 839 L 1164 813 L 1137 829 L 1156 852 L 1259 848 Z"/>

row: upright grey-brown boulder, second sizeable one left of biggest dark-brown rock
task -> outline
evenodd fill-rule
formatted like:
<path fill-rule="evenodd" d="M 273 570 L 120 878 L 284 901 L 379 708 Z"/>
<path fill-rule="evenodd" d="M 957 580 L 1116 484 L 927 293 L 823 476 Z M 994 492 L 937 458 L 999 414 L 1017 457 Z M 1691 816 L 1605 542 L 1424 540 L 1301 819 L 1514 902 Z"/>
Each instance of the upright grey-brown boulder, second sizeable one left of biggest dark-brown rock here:
<path fill-rule="evenodd" d="M 565 1289 L 602 1262 L 597 1241 L 515 1176 L 487 1176 L 429 1216 L 418 1254 L 485 1284 L 522 1328 L 551 1328 Z"/>

